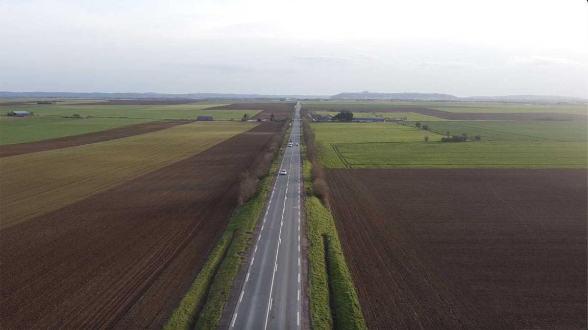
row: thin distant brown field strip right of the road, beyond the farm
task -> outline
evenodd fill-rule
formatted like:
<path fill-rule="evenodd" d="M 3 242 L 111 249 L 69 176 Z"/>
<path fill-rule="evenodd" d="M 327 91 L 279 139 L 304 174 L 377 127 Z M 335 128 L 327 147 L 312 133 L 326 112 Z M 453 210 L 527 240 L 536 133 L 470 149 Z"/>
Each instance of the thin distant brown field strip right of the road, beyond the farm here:
<path fill-rule="evenodd" d="M 330 109 L 325 109 L 323 107 L 305 107 L 305 109 L 309 111 L 330 111 Z M 389 108 L 374 108 L 369 109 L 366 107 L 365 109 L 355 109 L 355 108 L 345 108 L 345 107 L 337 107 L 333 111 L 355 111 L 358 110 L 362 111 L 372 111 L 372 112 L 416 112 L 420 113 L 421 115 L 433 116 L 437 118 L 449 119 L 449 120 L 586 120 L 588 116 L 583 115 L 571 115 L 568 113 L 552 113 L 552 112 L 532 112 L 532 113 L 477 113 L 477 112 L 448 112 L 443 110 L 436 110 L 436 109 L 429 109 L 426 107 L 389 107 Z M 359 115 L 358 115 L 359 116 Z"/>

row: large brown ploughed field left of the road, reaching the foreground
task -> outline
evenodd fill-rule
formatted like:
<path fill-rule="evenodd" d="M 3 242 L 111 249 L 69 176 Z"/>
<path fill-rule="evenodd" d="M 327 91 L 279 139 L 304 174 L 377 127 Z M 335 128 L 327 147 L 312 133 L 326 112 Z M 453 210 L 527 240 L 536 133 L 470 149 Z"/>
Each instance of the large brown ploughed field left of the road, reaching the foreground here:
<path fill-rule="evenodd" d="M 2 328 L 161 328 L 278 123 L 0 231 Z"/>

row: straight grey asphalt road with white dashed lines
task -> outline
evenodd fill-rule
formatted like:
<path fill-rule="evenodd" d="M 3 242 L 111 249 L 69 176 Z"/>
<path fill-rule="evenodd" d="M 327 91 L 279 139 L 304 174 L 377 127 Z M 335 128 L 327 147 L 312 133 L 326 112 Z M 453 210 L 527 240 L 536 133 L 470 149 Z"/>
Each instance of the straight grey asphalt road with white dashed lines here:
<path fill-rule="evenodd" d="M 230 329 L 300 329 L 300 102 L 289 139 Z"/>

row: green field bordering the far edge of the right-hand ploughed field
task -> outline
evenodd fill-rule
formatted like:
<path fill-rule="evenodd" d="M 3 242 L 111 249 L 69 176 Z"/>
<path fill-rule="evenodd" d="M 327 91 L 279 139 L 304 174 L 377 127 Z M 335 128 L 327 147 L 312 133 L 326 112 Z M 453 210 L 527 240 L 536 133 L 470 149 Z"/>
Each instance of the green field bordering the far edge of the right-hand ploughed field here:
<path fill-rule="evenodd" d="M 586 168 L 586 142 L 406 142 L 337 144 L 341 160 L 330 167 L 354 169 Z"/>

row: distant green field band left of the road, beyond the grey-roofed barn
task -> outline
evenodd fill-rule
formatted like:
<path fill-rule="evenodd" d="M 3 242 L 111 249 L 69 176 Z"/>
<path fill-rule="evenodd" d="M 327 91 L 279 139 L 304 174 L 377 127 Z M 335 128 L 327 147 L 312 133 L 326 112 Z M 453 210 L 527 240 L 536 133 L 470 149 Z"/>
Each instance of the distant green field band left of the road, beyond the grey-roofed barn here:
<path fill-rule="evenodd" d="M 261 110 L 205 110 L 207 107 L 229 104 L 197 102 L 185 105 L 32 105 L 3 106 L 3 114 L 13 110 L 26 110 L 39 115 L 71 116 L 75 113 L 95 117 L 129 117 L 142 119 L 196 119 L 198 116 L 213 116 L 216 120 L 240 120 L 243 115 L 253 116 Z"/>

